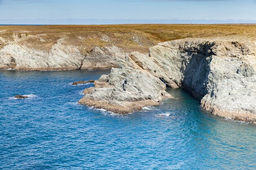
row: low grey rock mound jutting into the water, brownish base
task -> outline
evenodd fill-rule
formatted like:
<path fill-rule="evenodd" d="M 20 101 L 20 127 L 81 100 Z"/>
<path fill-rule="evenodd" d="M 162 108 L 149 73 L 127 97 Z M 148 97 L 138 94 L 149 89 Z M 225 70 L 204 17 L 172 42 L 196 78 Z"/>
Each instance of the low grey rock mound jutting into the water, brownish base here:
<path fill-rule="evenodd" d="M 112 68 L 109 75 L 102 75 L 94 84 L 95 87 L 85 89 L 85 97 L 79 104 L 104 108 L 115 113 L 130 113 L 172 98 L 159 78 L 143 69 L 128 66 Z"/>

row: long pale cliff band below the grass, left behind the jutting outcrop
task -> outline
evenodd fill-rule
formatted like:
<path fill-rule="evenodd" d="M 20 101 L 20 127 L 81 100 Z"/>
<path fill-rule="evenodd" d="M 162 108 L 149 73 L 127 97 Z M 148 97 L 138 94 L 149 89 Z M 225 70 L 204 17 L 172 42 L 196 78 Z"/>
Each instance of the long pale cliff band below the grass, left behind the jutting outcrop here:
<path fill-rule="evenodd" d="M 22 44 L 25 39 L 25 34 L 14 36 L 11 41 L 0 39 L 0 44 L 4 44 L 0 49 L 0 69 L 107 69 L 117 67 L 126 55 L 117 46 L 95 46 L 87 53 L 81 53 L 81 47 L 67 45 L 65 38 L 59 38 L 49 49 L 36 49 Z"/>

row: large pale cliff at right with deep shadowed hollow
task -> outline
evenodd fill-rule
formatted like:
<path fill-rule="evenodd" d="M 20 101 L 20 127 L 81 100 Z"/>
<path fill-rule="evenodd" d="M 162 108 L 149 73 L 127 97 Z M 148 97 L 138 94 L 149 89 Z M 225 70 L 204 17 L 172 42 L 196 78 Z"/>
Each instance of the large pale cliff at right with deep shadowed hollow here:
<path fill-rule="evenodd" d="M 151 60 L 164 69 L 151 73 L 191 92 L 215 115 L 255 121 L 255 51 L 253 42 L 164 42 L 150 49 Z"/>

